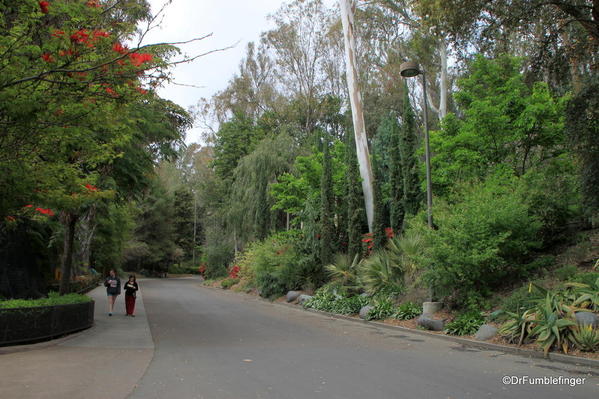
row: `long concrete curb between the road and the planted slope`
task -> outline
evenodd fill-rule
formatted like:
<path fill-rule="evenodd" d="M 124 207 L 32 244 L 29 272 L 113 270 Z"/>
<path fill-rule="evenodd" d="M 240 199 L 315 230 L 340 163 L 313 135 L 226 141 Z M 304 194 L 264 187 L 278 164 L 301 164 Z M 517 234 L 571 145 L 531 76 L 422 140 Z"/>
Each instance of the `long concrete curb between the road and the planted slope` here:
<path fill-rule="evenodd" d="M 253 295 L 249 295 L 249 294 L 245 294 L 245 293 L 238 293 L 235 291 L 223 290 L 222 288 L 208 287 L 208 286 L 204 286 L 204 285 L 202 285 L 202 287 L 209 288 L 209 289 L 212 289 L 215 291 L 223 291 L 223 292 L 229 291 L 230 293 L 233 293 L 233 294 L 243 294 L 243 295 L 251 296 L 258 300 L 270 303 L 272 305 L 284 306 L 284 307 L 291 308 L 291 309 L 316 313 L 316 314 L 332 317 L 332 318 L 339 319 L 339 320 L 347 320 L 347 321 L 352 321 L 354 323 L 371 324 L 371 325 L 375 325 L 377 327 L 385 328 L 387 330 L 401 331 L 401 332 L 405 332 L 408 334 L 415 334 L 415 335 L 422 335 L 422 336 L 426 336 L 426 337 L 438 338 L 438 339 L 442 339 L 445 341 L 454 342 L 456 344 L 461 344 L 463 346 L 472 347 L 472 348 L 486 349 L 486 350 L 492 350 L 492 351 L 497 351 L 497 352 L 510 353 L 510 354 L 514 354 L 514 355 L 527 357 L 527 358 L 550 360 L 550 361 L 555 361 L 555 362 L 572 364 L 572 365 L 576 365 L 576 366 L 587 366 L 587 367 L 599 369 L 599 360 L 564 355 L 561 353 L 550 353 L 548 355 L 548 357 L 546 358 L 543 356 L 543 352 L 533 351 L 530 349 L 523 349 L 523 348 L 512 347 L 512 346 L 503 346 L 503 345 L 492 344 L 492 343 L 484 342 L 484 341 L 474 341 L 471 339 L 455 337 L 452 335 L 433 334 L 428 331 L 416 330 L 416 329 L 406 328 L 406 327 L 401 327 L 401 326 L 394 326 L 394 325 L 385 324 L 385 323 L 382 323 L 379 321 L 368 321 L 368 320 L 356 319 L 354 317 L 340 315 L 340 314 L 336 314 L 336 313 L 323 312 L 323 311 L 315 310 L 315 309 L 306 309 L 303 306 L 294 305 L 291 303 L 273 302 L 273 301 L 269 301 L 268 299 L 264 299 L 262 297 L 255 297 Z"/>

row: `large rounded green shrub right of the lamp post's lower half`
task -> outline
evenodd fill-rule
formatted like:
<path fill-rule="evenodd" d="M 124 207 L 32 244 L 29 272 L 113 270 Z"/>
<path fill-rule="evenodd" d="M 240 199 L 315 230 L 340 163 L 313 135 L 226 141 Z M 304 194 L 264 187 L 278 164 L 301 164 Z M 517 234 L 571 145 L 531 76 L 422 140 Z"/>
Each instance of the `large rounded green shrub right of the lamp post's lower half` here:
<path fill-rule="evenodd" d="M 462 200 L 437 206 L 439 230 L 430 232 L 425 278 L 437 295 L 463 306 L 469 292 L 485 294 L 522 273 L 540 224 L 528 212 L 515 178 L 466 187 Z"/>

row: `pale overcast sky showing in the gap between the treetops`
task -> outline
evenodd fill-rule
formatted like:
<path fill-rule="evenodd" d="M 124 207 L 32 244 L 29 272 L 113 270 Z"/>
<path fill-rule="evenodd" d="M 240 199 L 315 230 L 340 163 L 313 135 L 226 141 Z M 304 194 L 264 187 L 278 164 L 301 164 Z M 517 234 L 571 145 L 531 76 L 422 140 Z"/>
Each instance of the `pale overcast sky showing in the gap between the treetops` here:
<path fill-rule="evenodd" d="M 164 0 L 150 0 L 157 12 Z M 174 0 L 168 6 L 162 27 L 153 31 L 147 43 L 183 41 L 212 33 L 212 37 L 183 46 L 189 55 L 200 54 L 235 43 L 233 49 L 207 55 L 174 70 L 176 83 L 202 88 L 167 85 L 160 89 L 162 97 L 189 108 L 201 97 L 210 98 L 222 90 L 237 72 L 248 42 L 256 41 L 271 25 L 267 15 L 274 13 L 283 0 Z M 187 143 L 199 141 L 200 130 L 187 133 Z"/>

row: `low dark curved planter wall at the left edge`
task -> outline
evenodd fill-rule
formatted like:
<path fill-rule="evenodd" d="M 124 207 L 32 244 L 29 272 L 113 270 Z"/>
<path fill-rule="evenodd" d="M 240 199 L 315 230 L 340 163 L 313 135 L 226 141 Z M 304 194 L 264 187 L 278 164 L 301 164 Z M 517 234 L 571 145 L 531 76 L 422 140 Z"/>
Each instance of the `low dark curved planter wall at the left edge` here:
<path fill-rule="evenodd" d="M 94 324 L 94 301 L 69 305 L 0 309 L 0 346 L 41 341 Z"/>

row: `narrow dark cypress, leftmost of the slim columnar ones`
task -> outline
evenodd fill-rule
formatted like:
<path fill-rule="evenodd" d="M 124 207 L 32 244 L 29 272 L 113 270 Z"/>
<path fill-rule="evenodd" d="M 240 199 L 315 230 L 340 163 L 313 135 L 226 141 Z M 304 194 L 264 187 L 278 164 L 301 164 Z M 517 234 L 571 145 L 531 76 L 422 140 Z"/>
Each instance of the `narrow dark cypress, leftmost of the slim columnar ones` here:
<path fill-rule="evenodd" d="M 322 177 L 320 180 L 320 261 L 328 265 L 333 261 L 333 240 L 335 226 L 333 223 L 333 172 L 331 170 L 329 140 L 325 136 L 322 152 Z"/>

